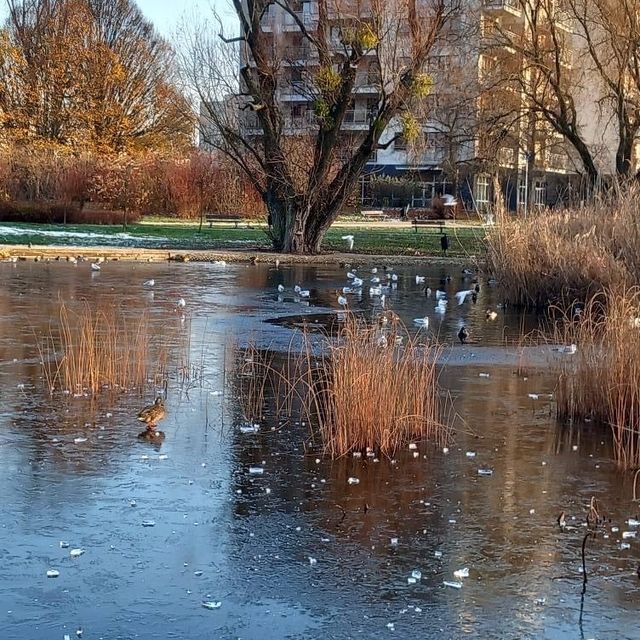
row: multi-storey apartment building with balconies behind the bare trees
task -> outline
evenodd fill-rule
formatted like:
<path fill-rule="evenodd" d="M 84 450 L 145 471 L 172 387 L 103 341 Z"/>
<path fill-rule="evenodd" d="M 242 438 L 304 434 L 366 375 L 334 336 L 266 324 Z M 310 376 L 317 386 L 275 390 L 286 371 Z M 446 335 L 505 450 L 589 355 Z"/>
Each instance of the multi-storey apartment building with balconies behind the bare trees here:
<path fill-rule="evenodd" d="M 299 28 L 299 22 L 310 30 L 316 27 L 317 5 L 313 0 L 296 2 L 295 17 L 271 5 L 262 18 L 262 28 L 273 33 L 274 55 L 281 60 L 278 99 L 291 135 L 308 132 L 317 122 L 308 79 L 319 61 Z M 576 187 L 579 164 L 566 141 L 527 109 L 523 78 L 526 83 L 530 72 L 514 43 L 520 45 L 533 36 L 520 0 L 463 3 L 459 24 L 452 25 L 449 38 L 438 42 L 428 62 L 434 87 L 422 120 L 423 144 L 417 153 L 409 149 L 397 137 L 399 123 L 392 123 L 362 178 L 363 204 L 426 207 L 434 196 L 449 193 L 468 208 L 482 211 L 495 201 L 497 176 L 504 202 L 522 210 L 553 205 Z M 339 17 L 344 15 L 336 12 L 330 34 L 337 47 L 341 46 Z M 570 69 L 571 22 L 559 4 L 549 35 L 552 30 L 554 35 L 558 30 L 566 34 L 561 38 L 562 64 Z M 535 37 L 544 43 L 546 36 Z M 344 120 L 345 136 L 366 131 L 378 104 L 379 71 L 375 53 L 369 55 L 371 63 L 358 68 Z M 241 123 L 245 135 L 260 135 L 255 113 L 243 112 Z M 381 183 L 387 185 L 382 195 Z"/>

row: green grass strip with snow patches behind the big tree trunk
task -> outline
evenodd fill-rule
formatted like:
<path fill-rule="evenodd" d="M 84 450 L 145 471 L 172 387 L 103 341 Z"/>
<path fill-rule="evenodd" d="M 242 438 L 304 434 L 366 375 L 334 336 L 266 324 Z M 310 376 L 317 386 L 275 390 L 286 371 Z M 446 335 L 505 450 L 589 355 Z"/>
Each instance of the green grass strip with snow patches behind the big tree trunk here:
<path fill-rule="evenodd" d="M 381 255 L 441 255 L 437 227 L 420 228 L 417 233 L 408 223 L 362 226 L 350 221 L 332 227 L 324 242 L 326 251 L 345 251 L 341 236 L 353 234 L 353 253 Z M 449 255 L 464 257 L 484 254 L 484 229 L 479 226 L 447 228 Z M 159 249 L 268 249 L 265 228 L 251 225 L 235 228 L 232 224 L 205 225 L 150 219 L 122 227 L 103 225 L 0 224 L 0 244 L 33 246 L 119 246 Z"/>

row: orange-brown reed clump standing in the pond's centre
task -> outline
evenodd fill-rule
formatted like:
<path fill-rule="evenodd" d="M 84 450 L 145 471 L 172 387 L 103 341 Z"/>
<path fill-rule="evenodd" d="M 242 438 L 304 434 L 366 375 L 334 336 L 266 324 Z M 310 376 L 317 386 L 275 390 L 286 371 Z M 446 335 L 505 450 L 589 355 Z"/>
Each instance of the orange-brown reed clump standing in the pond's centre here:
<path fill-rule="evenodd" d="M 437 345 L 422 344 L 397 321 L 380 328 L 351 313 L 336 338 L 302 338 L 281 366 L 273 355 L 245 351 L 240 397 L 248 419 L 262 417 L 273 398 L 278 419 L 316 427 L 334 457 L 367 448 L 391 455 L 410 440 L 449 438 L 440 419 Z"/>

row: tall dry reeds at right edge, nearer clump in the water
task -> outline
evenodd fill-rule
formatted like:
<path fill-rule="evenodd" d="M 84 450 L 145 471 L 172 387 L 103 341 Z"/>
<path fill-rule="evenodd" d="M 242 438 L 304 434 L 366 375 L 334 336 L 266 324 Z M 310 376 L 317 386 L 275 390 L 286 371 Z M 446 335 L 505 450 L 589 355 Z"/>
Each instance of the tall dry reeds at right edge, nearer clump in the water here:
<path fill-rule="evenodd" d="M 558 417 L 609 425 L 617 463 L 640 466 L 640 289 L 591 298 L 584 312 L 558 326 L 555 340 L 576 344 L 562 360 Z"/>

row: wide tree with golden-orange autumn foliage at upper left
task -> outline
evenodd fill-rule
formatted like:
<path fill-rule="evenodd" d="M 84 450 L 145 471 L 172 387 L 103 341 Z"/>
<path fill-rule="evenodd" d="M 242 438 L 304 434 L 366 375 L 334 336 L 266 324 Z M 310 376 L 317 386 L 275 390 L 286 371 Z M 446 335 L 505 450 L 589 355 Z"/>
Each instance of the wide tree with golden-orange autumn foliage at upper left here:
<path fill-rule="evenodd" d="M 99 151 L 186 145 L 173 53 L 131 0 L 7 0 L 0 124 L 18 144 Z"/>

